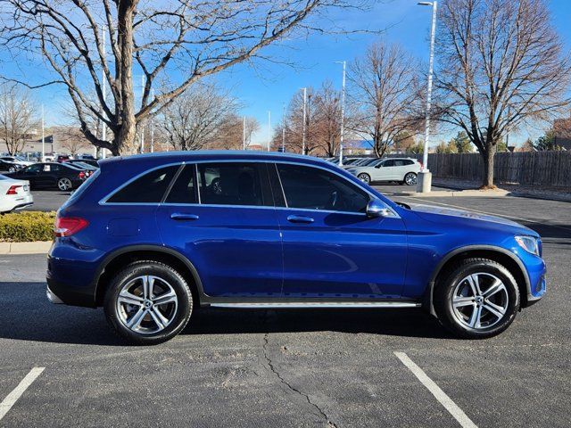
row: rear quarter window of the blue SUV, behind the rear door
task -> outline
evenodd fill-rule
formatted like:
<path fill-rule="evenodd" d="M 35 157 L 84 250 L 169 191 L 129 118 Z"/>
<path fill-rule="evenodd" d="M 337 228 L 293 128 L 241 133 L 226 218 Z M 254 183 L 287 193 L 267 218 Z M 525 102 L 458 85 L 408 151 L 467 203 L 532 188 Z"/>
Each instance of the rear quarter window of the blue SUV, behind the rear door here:
<path fill-rule="evenodd" d="M 153 169 L 138 177 L 119 191 L 115 192 L 107 202 L 112 203 L 158 203 L 177 173 L 178 165 Z"/>

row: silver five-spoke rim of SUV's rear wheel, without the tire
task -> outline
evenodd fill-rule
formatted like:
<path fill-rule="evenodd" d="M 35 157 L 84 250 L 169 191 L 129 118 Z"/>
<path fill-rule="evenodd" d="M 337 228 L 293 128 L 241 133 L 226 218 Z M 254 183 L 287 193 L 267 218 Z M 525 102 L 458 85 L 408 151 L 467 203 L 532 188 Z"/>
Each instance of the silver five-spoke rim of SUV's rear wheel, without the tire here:
<path fill-rule="evenodd" d="M 135 333 L 164 330 L 177 315 L 178 298 L 172 285 L 159 276 L 137 276 L 123 284 L 117 296 L 120 321 Z"/>

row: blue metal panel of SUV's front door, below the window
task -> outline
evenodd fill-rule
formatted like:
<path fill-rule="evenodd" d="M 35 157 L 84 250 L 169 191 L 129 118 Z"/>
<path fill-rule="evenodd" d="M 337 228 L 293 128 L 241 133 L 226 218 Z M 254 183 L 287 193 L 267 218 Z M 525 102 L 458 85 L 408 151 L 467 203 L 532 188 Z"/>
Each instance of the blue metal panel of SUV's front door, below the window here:
<path fill-rule="evenodd" d="M 290 216 L 313 221 L 292 222 Z M 310 210 L 278 210 L 278 218 L 284 297 L 401 296 L 407 243 L 400 218 Z"/>

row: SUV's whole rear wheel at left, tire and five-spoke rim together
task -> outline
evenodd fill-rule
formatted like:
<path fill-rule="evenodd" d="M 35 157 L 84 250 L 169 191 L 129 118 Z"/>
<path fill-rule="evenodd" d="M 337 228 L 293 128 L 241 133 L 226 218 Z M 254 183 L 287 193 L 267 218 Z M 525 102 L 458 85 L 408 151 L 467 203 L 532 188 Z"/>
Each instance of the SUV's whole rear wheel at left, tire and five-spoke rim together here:
<path fill-rule="evenodd" d="M 175 269 L 156 261 L 131 263 L 113 279 L 103 302 L 112 329 L 128 342 L 153 345 L 185 328 L 192 293 Z"/>

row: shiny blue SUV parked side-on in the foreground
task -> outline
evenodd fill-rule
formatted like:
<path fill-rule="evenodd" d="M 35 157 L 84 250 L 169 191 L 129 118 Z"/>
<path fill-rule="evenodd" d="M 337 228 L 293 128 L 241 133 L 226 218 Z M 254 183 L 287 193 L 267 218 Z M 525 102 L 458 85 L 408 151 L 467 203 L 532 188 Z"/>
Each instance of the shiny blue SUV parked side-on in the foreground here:
<path fill-rule="evenodd" d="M 503 218 L 392 202 L 330 162 L 252 152 L 114 158 L 59 210 L 54 303 L 103 307 L 138 344 L 200 307 L 423 307 L 467 338 L 542 298 L 539 235 Z"/>

